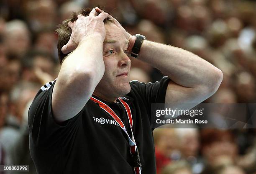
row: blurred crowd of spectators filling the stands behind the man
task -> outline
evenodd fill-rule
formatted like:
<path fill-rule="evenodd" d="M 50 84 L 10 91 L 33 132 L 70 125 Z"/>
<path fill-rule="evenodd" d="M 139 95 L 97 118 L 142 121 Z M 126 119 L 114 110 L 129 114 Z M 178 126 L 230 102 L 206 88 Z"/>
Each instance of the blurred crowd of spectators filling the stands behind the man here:
<path fill-rule="evenodd" d="M 27 113 L 40 87 L 58 75 L 55 30 L 73 11 L 98 5 L 129 33 L 192 51 L 221 69 L 223 82 L 206 103 L 256 103 L 253 0 L 1 0 L 0 165 L 29 165 L 36 173 Z M 155 82 L 164 75 L 131 61 L 131 80 Z M 256 174 L 253 129 L 167 126 L 154 130 L 154 141 L 157 174 Z"/>

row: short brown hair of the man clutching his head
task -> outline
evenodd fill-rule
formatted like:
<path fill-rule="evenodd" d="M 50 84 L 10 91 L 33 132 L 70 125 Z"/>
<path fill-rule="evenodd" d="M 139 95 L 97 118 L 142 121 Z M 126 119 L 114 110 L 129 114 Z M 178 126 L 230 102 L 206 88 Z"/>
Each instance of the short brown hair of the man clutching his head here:
<path fill-rule="evenodd" d="M 69 28 L 68 24 L 69 22 L 74 22 L 76 21 L 77 15 L 80 14 L 82 16 L 88 16 L 90 12 L 92 11 L 93 8 L 85 8 L 80 10 L 78 13 L 72 13 L 71 17 L 67 20 L 64 20 L 56 29 L 56 33 L 58 34 L 58 44 L 57 44 L 57 49 L 58 49 L 58 55 L 59 55 L 59 61 L 60 64 L 64 61 L 64 58 L 69 54 L 64 54 L 61 51 L 61 48 L 67 44 L 69 41 L 69 38 L 71 36 L 72 30 Z M 103 20 L 103 23 L 106 24 L 108 22 L 112 22 L 112 20 L 108 17 Z"/>

